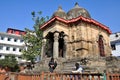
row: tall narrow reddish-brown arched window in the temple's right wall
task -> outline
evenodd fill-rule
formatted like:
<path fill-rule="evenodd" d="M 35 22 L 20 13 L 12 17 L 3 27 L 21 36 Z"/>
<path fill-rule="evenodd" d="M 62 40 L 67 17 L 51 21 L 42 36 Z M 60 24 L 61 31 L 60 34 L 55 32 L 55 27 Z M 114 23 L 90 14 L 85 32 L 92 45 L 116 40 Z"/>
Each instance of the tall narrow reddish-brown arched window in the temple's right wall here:
<path fill-rule="evenodd" d="M 104 57 L 105 52 L 104 52 L 104 44 L 103 44 L 103 36 L 102 35 L 99 36 L 98 45 L 99 45 L 100 56 Z"/>

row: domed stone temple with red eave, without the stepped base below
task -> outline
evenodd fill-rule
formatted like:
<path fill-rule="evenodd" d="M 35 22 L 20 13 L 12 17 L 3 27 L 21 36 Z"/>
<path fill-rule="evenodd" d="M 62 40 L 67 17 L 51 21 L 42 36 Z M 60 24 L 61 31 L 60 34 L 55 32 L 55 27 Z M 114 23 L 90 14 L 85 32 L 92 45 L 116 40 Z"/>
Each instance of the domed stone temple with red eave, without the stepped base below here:
<path fill-rule="evenodd" d="M 72 59 L 105 57 L 111 54 L 111 31 L 92 19 L 88 11 L 77 3 L 67 14 L 59 7 L 40 29 L 44 36 L 43 58 Z"/>

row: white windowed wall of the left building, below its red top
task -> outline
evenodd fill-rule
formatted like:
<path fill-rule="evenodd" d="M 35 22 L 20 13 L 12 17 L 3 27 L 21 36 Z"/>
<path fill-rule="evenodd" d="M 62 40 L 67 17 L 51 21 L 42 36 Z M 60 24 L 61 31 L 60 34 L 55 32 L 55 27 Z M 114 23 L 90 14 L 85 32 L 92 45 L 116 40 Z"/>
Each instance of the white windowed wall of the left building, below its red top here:
<path fill-rule="evenodd" d="M 4 37 L 4 40 L 2 40 L 1 37 Z M 11 38 L 11 40 L 8 41 L 8 38 Z M 15 41 L 15 39 L 17 41 Z M 3 59 L 7 54 L 13 54 L 16 55 L 16 57 L 18 57 L 22 54 L 22 52 L 19 50 L 24 48 L 24 42 L 20 35 L 0 33 L 0 46 L 3 47 L 2 49 L 0 49 L 1 59 Z M 9 47 L 10 49 L 7 50 L 7 47 Z M 15 48 L 16 50 L 13 51 L 13 48 Z"/>

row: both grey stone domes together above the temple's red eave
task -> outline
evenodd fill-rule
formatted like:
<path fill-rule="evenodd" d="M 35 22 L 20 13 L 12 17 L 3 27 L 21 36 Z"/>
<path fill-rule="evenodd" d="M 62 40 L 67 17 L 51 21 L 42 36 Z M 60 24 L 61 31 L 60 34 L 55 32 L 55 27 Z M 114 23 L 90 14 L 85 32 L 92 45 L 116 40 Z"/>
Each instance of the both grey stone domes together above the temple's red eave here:
<path fill-rule="evenodd" d="M 54 16 L 59 16 L 64 19 L 72 19 L 78 16 L 91 18 L 89 12 L 85 8 L 80 7 L 78 3 L 75 3 L 75 6 L 72 9 L 70 9 L 67 13 L 65 13 L 62 7 L 59 6 L 58 10 L 53 13 L 52 17 Z"/>

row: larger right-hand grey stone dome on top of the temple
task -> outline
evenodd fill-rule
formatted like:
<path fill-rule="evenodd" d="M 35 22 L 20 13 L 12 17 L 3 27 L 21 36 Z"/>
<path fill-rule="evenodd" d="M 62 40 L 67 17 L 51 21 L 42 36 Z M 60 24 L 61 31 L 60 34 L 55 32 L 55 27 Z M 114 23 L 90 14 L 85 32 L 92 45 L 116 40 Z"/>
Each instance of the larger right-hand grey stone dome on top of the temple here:
<path fill-rule="evenodd" d="M 71 9 L 70 11 L 68 11 L 67 16 L 68 16 L 68 19 L 76 18 L 78 16 L 91 18 L 88 11 L 80 7 L 78 3 L 75 3 L 75 7 Z"/>

